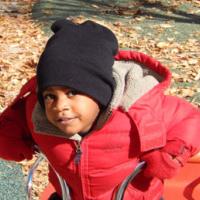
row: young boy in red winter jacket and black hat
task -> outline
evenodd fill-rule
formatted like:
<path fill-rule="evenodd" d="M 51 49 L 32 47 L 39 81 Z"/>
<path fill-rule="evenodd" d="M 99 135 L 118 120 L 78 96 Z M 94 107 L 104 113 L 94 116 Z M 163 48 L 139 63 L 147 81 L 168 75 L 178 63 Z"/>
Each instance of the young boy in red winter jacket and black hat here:
<path fill-rule="evenodd" d="M 124 199 L 159 200 L 163 180 L 199 150 L 199 110 L 164 95 L 170 72 L 142 53 L 118 52 L 106 27 L 64 19 L 52 30 L 36 78 L 0 117 L 0 156 L 31 159 L 37 144 L 73 200 L 115 199 L 144 160 Z M 54 170 L 50 199 L 59 199 Z"/>

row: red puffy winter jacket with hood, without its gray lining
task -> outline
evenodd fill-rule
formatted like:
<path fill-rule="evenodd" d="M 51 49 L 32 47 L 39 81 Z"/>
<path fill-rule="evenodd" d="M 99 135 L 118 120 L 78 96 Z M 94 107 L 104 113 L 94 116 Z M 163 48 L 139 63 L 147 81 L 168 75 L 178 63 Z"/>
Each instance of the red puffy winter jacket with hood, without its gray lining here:
<path fill-rule="evenodd" d="M 196 153 L 200 147 L 200 112 L 182 99 L 163 94 L 169 86 L 169 71 L 142 53 L 121 51 L 116 56 L 116 61 L 119 60 L 146 66 L 162 80 L 126 109 L 121 105 L 111 106 L 112 113 L 103 126 L 81 140 L 78 163 L 75 158 L 79 142 L 56 131 L 52 134 L 43 119 L 41 123 L 33 120 L 38 106 L 35 77 L 0 116 L 0 157 L 16 161 L 30 159 L 36 143 L 68 183 L 73 200 L 108 200 L 114 198 L 141 154 L 179 139 L 185 142 L 191 155 Z M 53 173 L 50 181 L 60 193 Z M 124 199 L 158 200 L 162 190 L 162 180 L 141 174 L 129 184 Z"/>

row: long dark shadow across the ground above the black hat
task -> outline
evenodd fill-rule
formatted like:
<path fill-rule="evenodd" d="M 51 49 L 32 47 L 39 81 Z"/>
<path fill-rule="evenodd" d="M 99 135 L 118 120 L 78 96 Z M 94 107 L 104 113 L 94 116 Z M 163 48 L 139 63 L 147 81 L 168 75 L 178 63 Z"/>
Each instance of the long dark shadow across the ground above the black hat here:
<path fill-rule="evenodd" d="M 34 5 L 32 16 L 34 19 L 44 21 L 77 15 L 94 15 L 106 20 L 123 20 L 124 18 L 128 20 L 134 17 L 131 10 L 139 9 L 138 14 L 151 16 L 153 17 L 151 20 L 173 20 L 175 22 L 200 24 L 200 15 L 188 13 L 188 9 L 194 9 L 192 5 L 184 4 L 180 7 L 165 2 L 161 0 L 160 2 L 151 3 L 148 0 L 135 0 L 129 1 L 129 3 L 113 3 L 110 0 L 105 3 L 105 1 L 95 0 L 43 0 Z M 129 10 L 129 16 L 124 17 L 121 15 L 118 12 L 120 9 Z M 126 21 L 126 19 L 124 20 Z"/>

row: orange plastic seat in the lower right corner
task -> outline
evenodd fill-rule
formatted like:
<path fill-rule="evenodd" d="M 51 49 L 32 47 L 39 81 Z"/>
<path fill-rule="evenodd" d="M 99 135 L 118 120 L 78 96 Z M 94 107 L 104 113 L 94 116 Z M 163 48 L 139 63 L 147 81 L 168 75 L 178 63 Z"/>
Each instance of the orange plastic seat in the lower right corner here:
<path fill-rule="evenodd" d="M 177 176 L 165 181 L 164 200 L 200 200 L 200 153 Z"/>

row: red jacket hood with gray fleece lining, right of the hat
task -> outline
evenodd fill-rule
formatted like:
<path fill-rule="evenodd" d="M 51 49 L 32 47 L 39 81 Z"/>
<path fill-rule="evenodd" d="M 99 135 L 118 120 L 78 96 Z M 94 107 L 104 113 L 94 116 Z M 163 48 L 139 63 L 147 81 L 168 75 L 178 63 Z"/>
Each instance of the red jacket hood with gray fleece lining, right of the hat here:
<path fill-rule="evenodd" d="M 163 92 L 170 85 L 171 73 L 155 59 L 134 51 L 120 51 L 115 57 L 113 78 L 116 86 L 107 109 L 99 117 L 101 128 L 111 112 L 121 108 L 124 112 L 149 91 Z"/>

